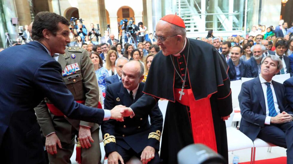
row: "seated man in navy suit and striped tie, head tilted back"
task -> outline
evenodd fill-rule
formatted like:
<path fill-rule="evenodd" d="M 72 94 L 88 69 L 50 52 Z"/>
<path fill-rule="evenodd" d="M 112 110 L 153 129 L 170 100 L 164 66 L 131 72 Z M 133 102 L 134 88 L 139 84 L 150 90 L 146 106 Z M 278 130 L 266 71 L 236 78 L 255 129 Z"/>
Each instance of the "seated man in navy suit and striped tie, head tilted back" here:
<path fill-rule="evenodd" d="M 242 83 L 238 96 L 240 131 L 253 141 L 258 137 L 287 148 L 287 163 L 293 163 L 293 113 L 286 102 L 284 86 L 272 81 L 282 65 L 277 56 L 268 55 L 262 60 L 260 76 Z"/>

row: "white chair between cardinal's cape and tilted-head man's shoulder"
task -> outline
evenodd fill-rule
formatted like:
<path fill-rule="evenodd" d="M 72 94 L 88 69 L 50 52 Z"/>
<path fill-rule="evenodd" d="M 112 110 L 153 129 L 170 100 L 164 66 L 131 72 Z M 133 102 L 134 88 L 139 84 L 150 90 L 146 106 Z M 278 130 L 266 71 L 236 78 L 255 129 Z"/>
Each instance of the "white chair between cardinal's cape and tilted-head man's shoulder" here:
<path fill-rule="evenodd" d="M 238 101 L 238 95 L 241 90 L 241 80 L 231 81 L 230 88 L 232 90 L 232 106 L 233 110 L 240 111 L 239 108 L 239 101 Z M 233 117 L 233 122 L 240 121 L 241 120 L 241 114 L 240 112 L 236 112 Z"/>

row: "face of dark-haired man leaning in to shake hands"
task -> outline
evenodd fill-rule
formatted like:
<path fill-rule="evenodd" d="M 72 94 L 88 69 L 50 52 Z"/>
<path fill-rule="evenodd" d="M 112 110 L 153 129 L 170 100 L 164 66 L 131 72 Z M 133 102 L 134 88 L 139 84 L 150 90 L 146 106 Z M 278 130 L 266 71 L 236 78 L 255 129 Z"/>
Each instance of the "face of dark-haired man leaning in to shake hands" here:
<path fill-rule="evenodd" d="M 65 53 L 65 46 L 67 46 L 67 44 L 70 43 L 69 33 L 70 30 L 68 26 L 59 22 L 56 36 L 54 36 L 51 32 L 48 32 L 48 35 L 44 36 L 44 38 L 47 39 L 47 43 L 49 46 L 47 48 L 50 50 L 51 54 Z"/>

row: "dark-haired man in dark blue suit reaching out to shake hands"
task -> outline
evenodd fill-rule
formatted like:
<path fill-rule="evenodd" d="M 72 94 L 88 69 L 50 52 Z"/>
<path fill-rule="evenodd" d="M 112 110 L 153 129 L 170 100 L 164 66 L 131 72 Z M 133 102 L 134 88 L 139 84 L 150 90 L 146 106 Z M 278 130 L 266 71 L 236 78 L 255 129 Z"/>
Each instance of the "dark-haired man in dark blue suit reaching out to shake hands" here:
<path fill-rule="evenodd" d="M 35 41 L 0 52 L 1 163 L 44 163 L 40 127 L 33 108 L 45 97 L 72 119 L 101 124 L 109 118 L 127 117 L 124 112 L 129 108 L 115 107 L 109 113 L 74 101 L 62 80 L 62 68 L 52 57 L 65 53 L 70 42 L 68 26 L 66 18 L 40 12 L 32 28 Z"/>

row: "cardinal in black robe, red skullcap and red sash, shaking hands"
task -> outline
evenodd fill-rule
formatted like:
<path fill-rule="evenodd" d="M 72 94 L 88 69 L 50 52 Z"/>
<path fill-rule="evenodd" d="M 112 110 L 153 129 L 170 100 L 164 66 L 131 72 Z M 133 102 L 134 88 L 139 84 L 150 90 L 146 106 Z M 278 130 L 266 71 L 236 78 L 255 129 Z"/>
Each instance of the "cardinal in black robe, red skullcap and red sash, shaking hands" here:
<path fill-rule="evenodd" d="M 228 161 L 225 120 L 232 98 L 226 61 L 212 45 L 186 38 L 184 22 L 176 15 L 161 18 L 155 37 L 162 50 L 152 60 L 145 94 L 130 108 L 135 114 L 147 113 L 142 110 L 152 109 L 160 98 L 169 100 L 163 163 L 177 163 L 178 151 L 192 143 L 205 144 Z"/>

